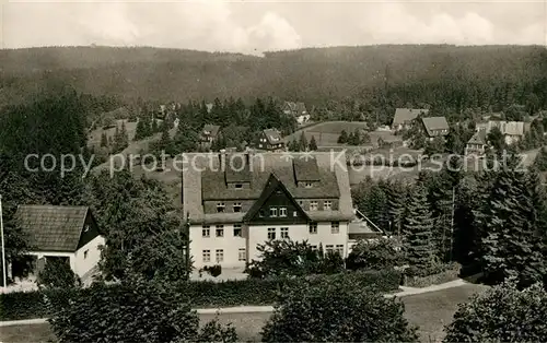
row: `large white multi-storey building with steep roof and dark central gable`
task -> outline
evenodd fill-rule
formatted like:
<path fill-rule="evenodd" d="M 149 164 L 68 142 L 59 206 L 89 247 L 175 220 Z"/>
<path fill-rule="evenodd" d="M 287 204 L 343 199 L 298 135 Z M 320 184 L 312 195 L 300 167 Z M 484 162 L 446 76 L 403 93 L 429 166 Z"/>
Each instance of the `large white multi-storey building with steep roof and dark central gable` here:
<path fill-rule="evenodd" d="M 269 239 L 348 253 L 354 218 L 344 153 L 185 154 L 194 265 L 243 268 Z"/>

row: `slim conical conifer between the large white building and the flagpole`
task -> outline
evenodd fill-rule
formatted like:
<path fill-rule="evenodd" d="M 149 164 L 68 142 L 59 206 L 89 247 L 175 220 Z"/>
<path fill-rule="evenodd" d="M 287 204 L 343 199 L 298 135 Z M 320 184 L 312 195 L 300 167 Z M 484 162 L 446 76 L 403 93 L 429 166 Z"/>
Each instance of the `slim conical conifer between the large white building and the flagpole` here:
<path fill-rule="evenodd" d="M 415 275 L 424 275 L 431 271 L 434 261 L 432 245 L 433 220 L 423 185 L 418 184 L 410 191 L 403 224 L 403 248 L 405 258 Z"/>

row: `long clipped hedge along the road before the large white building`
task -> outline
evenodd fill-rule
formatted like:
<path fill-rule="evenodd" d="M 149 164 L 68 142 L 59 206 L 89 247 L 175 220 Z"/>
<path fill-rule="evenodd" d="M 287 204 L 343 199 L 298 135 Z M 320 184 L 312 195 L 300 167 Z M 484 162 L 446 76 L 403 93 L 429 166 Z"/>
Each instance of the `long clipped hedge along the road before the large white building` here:
<path fill-rule="evenodd" d="M 271 279 L 271 280 L 238 280 L 238 281 L 196 281 L 182 282 L 174 286 L 178 292 L 188 296 L 195 308 L 217 308 L 231 306 L 260 306 L 274 305 L 279 292 L 288 292 L 298 285 L 317 285 L 325 282 L 335 282 L 359 288 L 371 288 L 380 293 L 396 291 L 400 283 L 400 272 L 357 271 L 333 275 L 312 275 L 304 279 Z M 116 287 L 116 285 L 112 285 Z M 70 296 L 84 289 L 47 291 L 48 298 L 56 305 L 62 306 Z M 0 294 L 0 320 L 20 320 L 44 318 L 49 316 L 45 304 L 44 293 L 18 292 Z"/>

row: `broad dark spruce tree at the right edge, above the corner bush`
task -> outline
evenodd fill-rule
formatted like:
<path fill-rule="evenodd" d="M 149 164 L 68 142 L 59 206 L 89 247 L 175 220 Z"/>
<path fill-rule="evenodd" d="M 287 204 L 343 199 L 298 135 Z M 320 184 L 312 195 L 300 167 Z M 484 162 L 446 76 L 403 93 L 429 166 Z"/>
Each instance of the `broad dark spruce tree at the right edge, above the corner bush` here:
<path fill-rule="evenodd" d="M 519 163 L 513 157 L 510 166 Z M 521 285 L 545 277 L 545 196 L 536 172 L 496 174 L 480 224 L 481 265 L 487 280 L 516 276 Z"/>

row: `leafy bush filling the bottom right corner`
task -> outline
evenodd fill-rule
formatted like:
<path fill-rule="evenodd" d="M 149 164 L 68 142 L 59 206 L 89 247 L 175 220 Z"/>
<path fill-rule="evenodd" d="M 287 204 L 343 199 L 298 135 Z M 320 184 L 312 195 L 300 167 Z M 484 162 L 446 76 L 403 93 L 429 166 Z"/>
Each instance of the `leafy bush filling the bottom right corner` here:
<path fill-rule="evenodd" d="M 540 284 L 519 291 L 515 280 L 458 306 L 445 342 L 544 342 L 547 292 Z"/>

